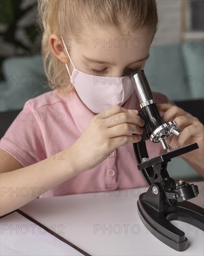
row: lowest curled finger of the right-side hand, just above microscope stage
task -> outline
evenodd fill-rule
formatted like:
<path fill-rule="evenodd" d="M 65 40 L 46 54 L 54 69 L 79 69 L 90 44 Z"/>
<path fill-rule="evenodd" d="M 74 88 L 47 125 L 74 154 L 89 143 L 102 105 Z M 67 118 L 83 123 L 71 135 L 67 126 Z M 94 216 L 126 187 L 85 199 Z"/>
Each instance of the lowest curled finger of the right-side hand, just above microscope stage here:
<path fill-rule="evenodd" d="M 191 136 L 199 135 L 201 133 L 201 129 L 198 124 L 192 124 L 184 128 L 181 134 L 178 137 L 178 146 L 182 146 L 185 141 L 187 141 Z"/>

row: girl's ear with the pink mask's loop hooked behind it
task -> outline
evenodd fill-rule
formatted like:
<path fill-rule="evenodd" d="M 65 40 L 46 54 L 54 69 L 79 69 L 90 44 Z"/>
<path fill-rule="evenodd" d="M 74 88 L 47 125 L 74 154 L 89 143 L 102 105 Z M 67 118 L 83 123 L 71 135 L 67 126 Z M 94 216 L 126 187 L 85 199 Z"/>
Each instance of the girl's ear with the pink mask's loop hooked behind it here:
<path fill-rule="evenodd" d="M 68 56 L 66 54 L 62 39 L 56 34 L 51 34 L 49 43 L 54 55 L 63 63 L 67 63 Z"/>

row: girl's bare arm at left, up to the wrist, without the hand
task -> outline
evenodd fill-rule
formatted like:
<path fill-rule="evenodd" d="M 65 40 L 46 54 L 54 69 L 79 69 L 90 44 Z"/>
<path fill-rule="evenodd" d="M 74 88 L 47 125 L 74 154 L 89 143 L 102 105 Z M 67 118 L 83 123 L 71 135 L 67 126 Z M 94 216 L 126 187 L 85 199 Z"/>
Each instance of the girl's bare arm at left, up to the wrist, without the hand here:
<path fill-rule="evenodd" d="M 40 188 L 47 190 L 81 173 L 72 147 L 30 166 L 19 168 L 20 163 L 1 149 L 0 159 L 0 216 L 18 209 L 39 196 Z M 12 159 L 12 160 L 11 160 Z M 8 170 L 8 166 L 10 170 Z M 15 169 L 16 166 L 16 169 Z M 22 166 L 22 165 L 21 165 Z M 18 169 L 19 168 L 19 169 Z M 13 170 L 14 169 L 14 170 Z M 26 189 L 22 189 L 26 188 Z M 22 189 L 22 193 L 20 193 Z M 17 191 L 17 192 L 15 192 Z M 26 191 L 29 193 L 25 196 Z M 42 194 L 45 189 L 41 189 Z"/>

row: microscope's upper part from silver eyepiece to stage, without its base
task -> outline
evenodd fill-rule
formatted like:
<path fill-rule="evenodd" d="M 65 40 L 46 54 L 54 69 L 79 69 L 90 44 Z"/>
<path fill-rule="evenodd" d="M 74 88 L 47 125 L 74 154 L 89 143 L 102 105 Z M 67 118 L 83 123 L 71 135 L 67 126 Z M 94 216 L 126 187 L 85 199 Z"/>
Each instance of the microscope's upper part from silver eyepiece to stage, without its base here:
<path fill-rule="evenodd" d="M 181 134 L 181 131 L 179 131 L 177 128 L 178 124 L 175 121 L 165 121 L 160 116 L 157 105 L 156 105 L 157 102 L 151 92 L 151 88 L 145 76 L 144 70 L 138 69 L 137 71 L 132 73 L 131 79 L 132 79 L 132 84 L 134 85 L 134 88 L 136 90 L 138 100 L 140 102 L 141 109 L 139 110 L 139 116 L 145 121 L 145 125 L 143 127 L 144 133 L 142 135 L 142 139 L 143 141 L 151 139 L 151 141 L 154 143 L 161 142 L 163 149 L 165 149 L 167 152 L 164 155 L 152 157 L 151 159 L 149 157 L 142 157 L 141 160 L 138 161 L 138 169 L 149 168 L 149 172 L 146 172 L 146 175 L 144 175 L 145 172 L 143 172 L 146 182 L 149 185 L 152 182 L 158 182 L 158 181 L 161 182 L 165 192 L 167 193 L 166 197 L 169 198 L 168 202 L 170 204 L 175 202 L 174 200 L 181 202 L 183 200 L 188 200 L 192 197 L 197 196 L 199 192 L 198 192 L 197 186 L 194 186 L 194 184 L 189 185 L 188 183 L 185 183 L 182 180 L 182 182 L 180 182 L 180 184 L 176 186 L 175 181 L 169 177 L 167 170 L 164 171 L 166 169 L 165 165 L 161 167 L 163 171 L 160 174 L 156 175 L 156 172 L 155 172 L 154 176 L 152 176 L 153 170 L 151 168 L 151 171 L 150 171 L 150 167 L 155 166 L 159 162 L 160 163 L 163 162 L 165 164 L 171 161 L 171 158 L 176 157 L 178 155 L 182 155 L 193 149 L 196 149 L 198 148 L 198 146 L 197 146 L 197 143 L 194 143 L 192 145 L 188 145 L 183 148 L 170 150 L 169 146 L 167 145 L 166 139 L 169 138 L 171 135 L 179 136 Z M 144 150 L 144 147 L 143 147 L 143 150 Z M 137 160 L 139 160 L 138 158 L 139 156 L 137 156 Z M 142 164 L 144 162 L 145 164 Z M 151 173 L 151 176 L 150 176 L 150 173 Z M 147 174 L 149 177 L 147 177 Z M 150 177 L 151 177 L 151 183 L 149 180 Z M 156 178 L 159 177 L 159 180 L 157 179 L 154 180 L 155 177 Z M 171 193 L 169 193 L 170 190 L 171 190 Z M 174 193 L 172 191 L 174 191 Z M 176 193 L 175 191 L 178 191 L 178 193 Z M 179 196 L 179 195 L 182 195 L 182 196 Z M 173 202 L 171 201 L 171 199 L 173 199 Z"/>

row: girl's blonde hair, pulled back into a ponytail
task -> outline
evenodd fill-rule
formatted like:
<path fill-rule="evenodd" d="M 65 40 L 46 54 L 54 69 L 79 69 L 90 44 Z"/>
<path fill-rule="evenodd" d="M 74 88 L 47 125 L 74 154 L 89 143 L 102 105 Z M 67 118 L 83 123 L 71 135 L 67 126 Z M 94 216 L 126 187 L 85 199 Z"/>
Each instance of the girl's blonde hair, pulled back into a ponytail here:
<path fill-rule="evenodd" d="M 85 27 L 113 28 L 126 33 L 151 28 L 154 35 L 158 29 L 157 3 L 156 0 L 38 0 L 38 25 L 46 42 L 41 51 L 48 86 L 66 95 L 74 88 L 65 64 L 53 54 L 50 35 L 63 36 L 69 54 L 69 42 L 82 42 Z M 60 78 L 66 82 L 57 84 Z"/>

